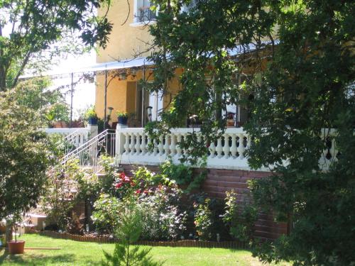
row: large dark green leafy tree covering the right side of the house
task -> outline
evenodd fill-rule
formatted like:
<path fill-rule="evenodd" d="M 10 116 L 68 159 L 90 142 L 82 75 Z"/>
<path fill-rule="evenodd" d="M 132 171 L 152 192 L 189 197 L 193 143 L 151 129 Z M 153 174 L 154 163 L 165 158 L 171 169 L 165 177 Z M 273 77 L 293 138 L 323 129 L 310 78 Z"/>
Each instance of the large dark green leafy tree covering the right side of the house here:
<path fill-rule="evenodd" d="M 248 105 L 249 164 L 272 174 L 251 184 L 254 199 L 290 226 L 257 255 L 295 265 L 354 263 L 354 1 L 155 4 L 151 89 L 168 94 L 175 74 L 182 88 L 155 125 L 160 133 L 197 115 L 202 142 L 192 134 L 181 145 L 200 157 L 224 130 L 226 104 Z"/>

